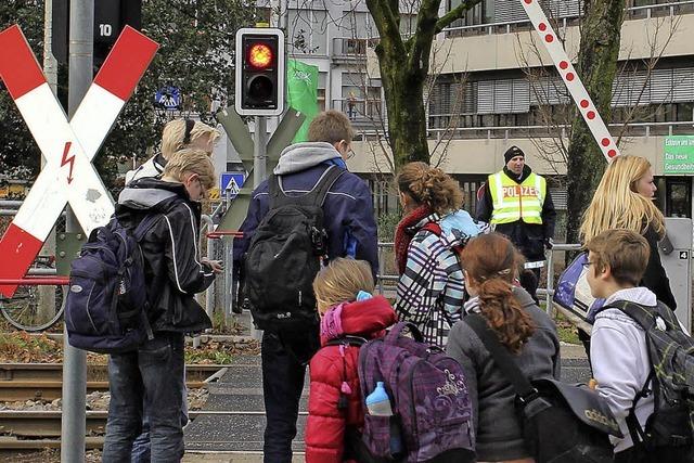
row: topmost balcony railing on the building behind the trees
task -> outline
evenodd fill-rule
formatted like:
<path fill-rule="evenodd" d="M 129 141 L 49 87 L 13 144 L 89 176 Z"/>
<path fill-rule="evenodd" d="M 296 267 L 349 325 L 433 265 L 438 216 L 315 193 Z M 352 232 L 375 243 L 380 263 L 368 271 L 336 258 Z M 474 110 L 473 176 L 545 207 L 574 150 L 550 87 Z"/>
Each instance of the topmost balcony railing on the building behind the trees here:
<path fill-rule="evenodd" d="M 627 20 L 666 17 L 678 14 L 694 13 L 694 0 L 673 1 L 670 3 L 647 4 L 627 8 Z M 578 24 L 579 16 L 566 16 L 558 20 L 562 28 Z M 474 24 L 470 26 L 447 27 L 446 37 L 480 36 L 492 34 L 511 34 L 532 28 L 529 20 L 507 21 L 503 23 Z"/>

